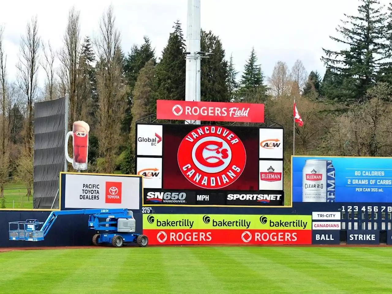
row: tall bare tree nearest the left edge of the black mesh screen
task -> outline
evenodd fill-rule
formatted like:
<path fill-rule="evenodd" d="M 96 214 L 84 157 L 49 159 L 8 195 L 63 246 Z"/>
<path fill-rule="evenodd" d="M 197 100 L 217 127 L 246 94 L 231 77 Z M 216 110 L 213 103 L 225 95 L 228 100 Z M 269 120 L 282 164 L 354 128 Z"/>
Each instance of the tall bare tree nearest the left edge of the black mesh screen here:
<path fill-rule="evenodd" d="M 40 49 L 37 17 L 27 24 L 26 36 L 22 36 L 18 68 L 18 82 L 27 97 L 27 123 L 25 129 L 25 147 L 29 154 L 33 153 L 33 101 L 37 91 L 37 71 Z"/>

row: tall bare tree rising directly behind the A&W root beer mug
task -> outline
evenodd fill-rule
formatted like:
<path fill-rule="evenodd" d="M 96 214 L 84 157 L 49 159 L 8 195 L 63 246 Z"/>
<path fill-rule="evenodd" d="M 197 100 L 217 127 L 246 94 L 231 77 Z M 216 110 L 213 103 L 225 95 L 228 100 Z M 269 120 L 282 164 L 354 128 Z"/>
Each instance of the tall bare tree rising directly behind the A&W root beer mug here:
<path fill-rule="evenodd" d="M 59 70 L 62 94 L 69 94 L 71 109 L 70 123 L 78 120 L 77 104 L 77 71 L 80 56 L 80 11 L 72 7 L 68 13 L 68 24 L 64 34 L 64 48 L 59 53 L 62 66 Z"/>

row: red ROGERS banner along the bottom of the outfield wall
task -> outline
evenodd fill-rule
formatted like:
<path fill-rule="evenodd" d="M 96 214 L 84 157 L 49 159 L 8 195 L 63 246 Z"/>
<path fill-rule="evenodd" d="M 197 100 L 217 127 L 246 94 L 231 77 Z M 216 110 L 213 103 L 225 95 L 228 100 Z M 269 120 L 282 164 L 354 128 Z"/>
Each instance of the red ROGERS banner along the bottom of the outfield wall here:
<path fill-rule="evenodd" d="M 312 244 L 312 230 L 143 230 L 150 245 Z"/>

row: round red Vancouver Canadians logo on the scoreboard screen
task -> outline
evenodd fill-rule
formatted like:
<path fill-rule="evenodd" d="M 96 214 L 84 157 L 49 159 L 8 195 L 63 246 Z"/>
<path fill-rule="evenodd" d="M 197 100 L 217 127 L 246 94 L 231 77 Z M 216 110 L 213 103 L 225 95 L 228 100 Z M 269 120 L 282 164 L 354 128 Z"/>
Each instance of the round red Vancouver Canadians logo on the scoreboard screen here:
<path fill-rule="evenodd" d="M 182 174 L 204 189 L 234 183 L 243 172 L 246 151 L 236 134 L 225 127 L 203 126 L 185 136 L 178 147 Z"/>

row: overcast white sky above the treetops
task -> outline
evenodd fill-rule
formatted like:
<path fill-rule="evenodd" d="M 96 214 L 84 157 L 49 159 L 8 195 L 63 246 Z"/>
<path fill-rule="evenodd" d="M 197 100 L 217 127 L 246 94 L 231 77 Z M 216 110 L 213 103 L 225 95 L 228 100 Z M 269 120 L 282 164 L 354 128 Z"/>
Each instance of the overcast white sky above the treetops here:
<path fill-rule="evenodd" d="M 388 0 L 381 2 L 387 4 Z M 102 13 L 110 3 L 122 34 L 124 52 L 132 44 L 141 44 L 143 35 L 147 35 L 160 57 L 176 19 L 183 24 L 186 38 L 187 0 L 5 0 L 0 9 L 0 24 L 5 25 L 9 78 L 16 76 L 20 36 L 25 34 L 32 16 L 38 16 L 42 40 L 50 40 L 55 49 L 60 49 L 72 6 L 80 10 L 82 36 L 95 36 Z M 298 58 L 308 73 L 317 70 L 324 74 L 321 48 L 337 48 L 328 36 L 337 36 L 335 29 L 341 24 L 343 13 L 356 14 L 358 4 L 358 0 L 201 0 L 201 27 L 220 36 L 227 58 L 233 54 L 240 74 L 252 46 L 266 76 L 271 75 L 278 60 L 287 62 L 291 68 Z M 42 85 L 44 72 L 41 70 L 39 74 Z"/>

